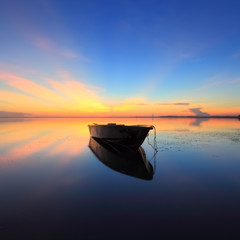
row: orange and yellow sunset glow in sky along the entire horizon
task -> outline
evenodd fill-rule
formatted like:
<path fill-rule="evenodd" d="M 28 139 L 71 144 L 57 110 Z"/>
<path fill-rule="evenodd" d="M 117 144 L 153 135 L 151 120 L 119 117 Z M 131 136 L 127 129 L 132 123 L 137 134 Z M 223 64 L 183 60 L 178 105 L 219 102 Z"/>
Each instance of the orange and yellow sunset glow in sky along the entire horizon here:
<path fill-rule="evenodd" d="M 194 109 L 210 115 L 239 115 L 240 107 L 220 107 L 185 101 L 156 102 L 128 98 L 122 102 L 104 102 L 99 88 L 71 80 L 46 79 L 41 84 L 10 73 L 0 74 L 0 114 L 21 113 L 15 117 L 121 117 L 121 116 L 195 116 Z M 220 103 L 219 103 L 220 105 Z M 193 110 L 192 110 L 193 109 Z M 1 117 L 1 115 L 0 115 Z"/>

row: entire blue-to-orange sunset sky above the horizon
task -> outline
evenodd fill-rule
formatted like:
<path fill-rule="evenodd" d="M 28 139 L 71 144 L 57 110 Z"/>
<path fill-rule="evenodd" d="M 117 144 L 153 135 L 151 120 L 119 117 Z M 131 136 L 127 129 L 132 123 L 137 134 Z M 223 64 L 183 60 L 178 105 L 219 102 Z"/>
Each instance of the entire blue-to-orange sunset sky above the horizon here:
<path fill-rule="evenodd" d="M 240 114 L 240 1 L 1 0 L 0 117 Z"/>

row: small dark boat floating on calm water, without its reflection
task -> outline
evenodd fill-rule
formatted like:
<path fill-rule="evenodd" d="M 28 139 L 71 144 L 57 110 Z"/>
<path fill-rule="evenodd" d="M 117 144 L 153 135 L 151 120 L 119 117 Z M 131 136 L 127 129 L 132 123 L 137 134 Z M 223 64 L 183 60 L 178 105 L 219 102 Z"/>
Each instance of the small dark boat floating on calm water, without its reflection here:
<path fill-rule="evenodd" d="M 142 145 L 148 132 L 154 128 L 151 125 L 120 125 L 116 123 L 106 125 L 94 123 L 88 127 L 91 137 L 136 148 Z"/>

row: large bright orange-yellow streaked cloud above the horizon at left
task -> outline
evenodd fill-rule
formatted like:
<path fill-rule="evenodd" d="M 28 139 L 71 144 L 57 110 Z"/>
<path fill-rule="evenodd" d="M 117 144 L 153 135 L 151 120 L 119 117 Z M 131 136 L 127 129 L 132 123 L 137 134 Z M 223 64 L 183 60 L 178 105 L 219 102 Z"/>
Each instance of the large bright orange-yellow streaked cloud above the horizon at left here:
<path fill-rule="evenodd" d="M 11 105 L 2 110 L 30 112 L 34 115 L 79 116 L 84 113 L 109 112 L 97 94 L 96 90 L 89 89 L 81 82 L 45 81 L 44 84 L 15 76 L 0 74 L 0 79 L 7 86 L 20 90 L 19 93 L 11 90 L 0 90 L 0 101 L 7 101 Z"/>

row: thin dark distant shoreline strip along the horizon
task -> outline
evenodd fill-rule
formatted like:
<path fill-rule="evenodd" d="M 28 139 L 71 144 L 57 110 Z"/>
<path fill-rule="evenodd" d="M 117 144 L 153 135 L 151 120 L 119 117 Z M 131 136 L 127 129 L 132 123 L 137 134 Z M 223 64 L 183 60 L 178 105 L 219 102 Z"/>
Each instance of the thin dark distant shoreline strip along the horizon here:
<path fill-rule="evenodd" d="M 230 118 L 240 119 L 240 116 L 133 116 L 133 117 L 0 117 L 0 118 Z"/>

